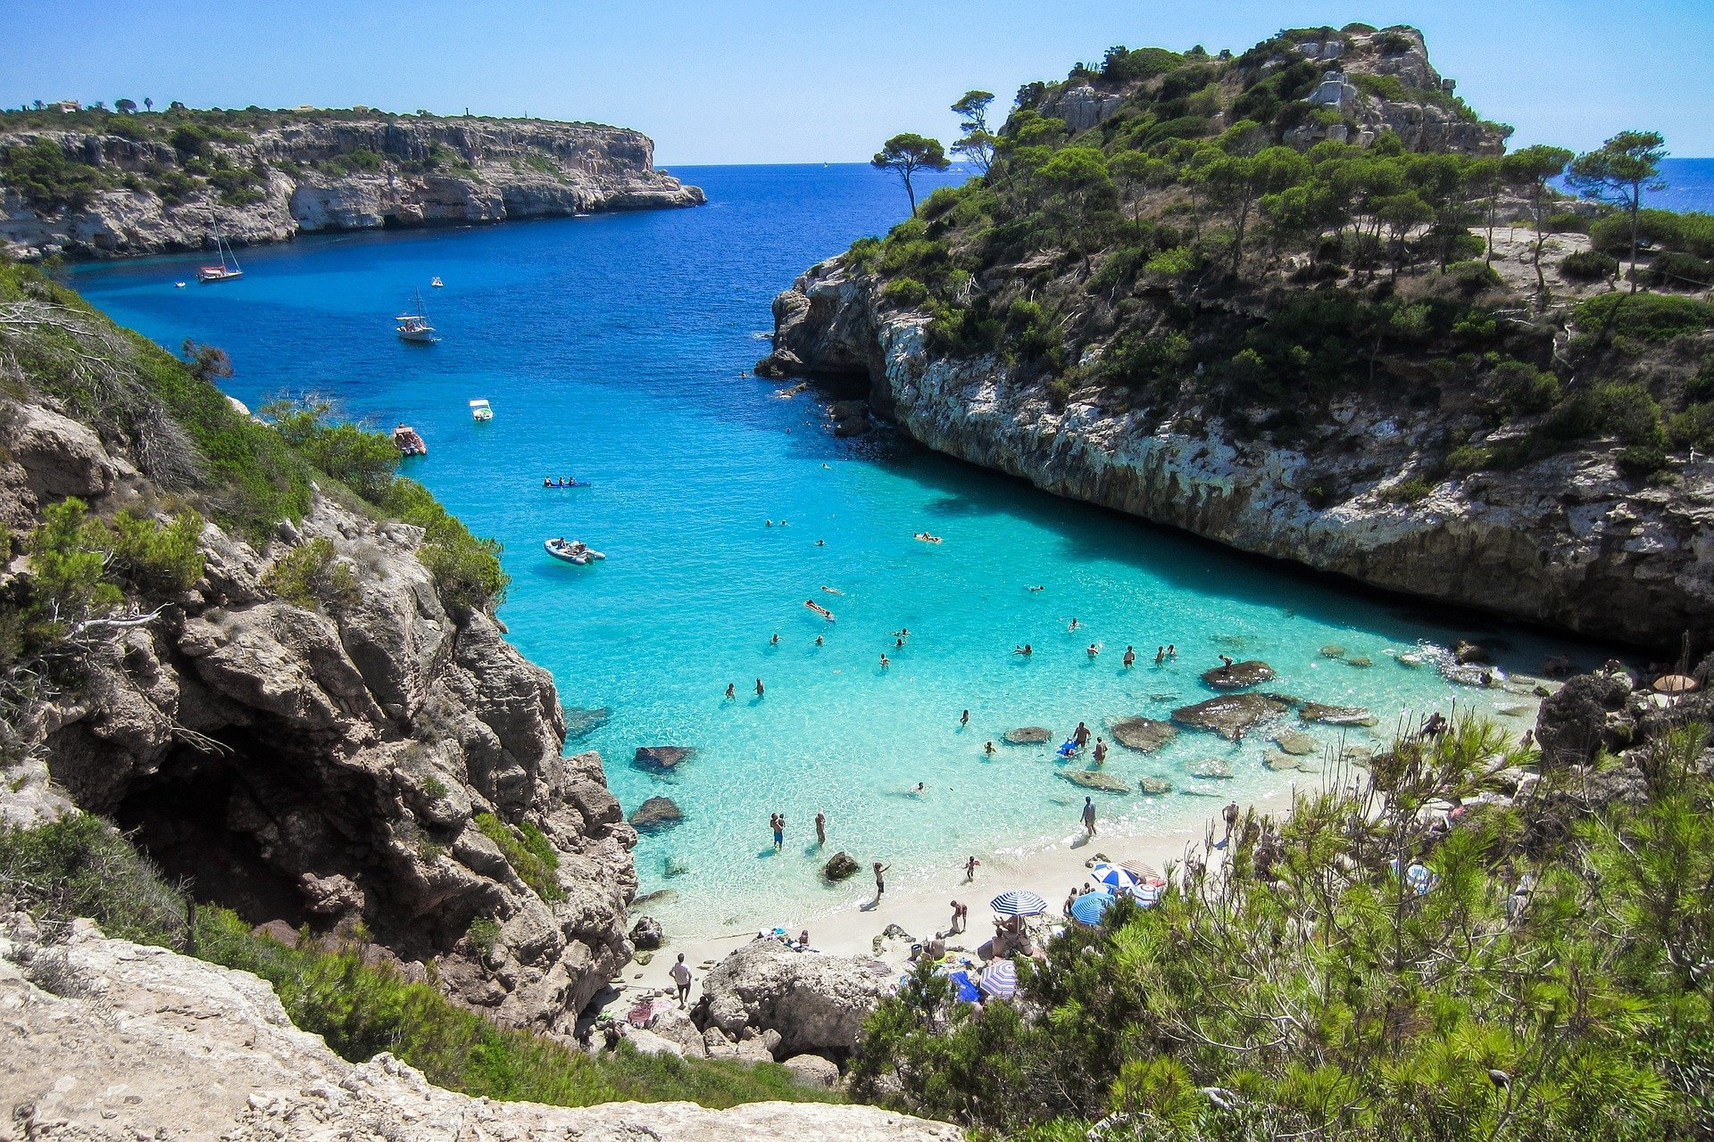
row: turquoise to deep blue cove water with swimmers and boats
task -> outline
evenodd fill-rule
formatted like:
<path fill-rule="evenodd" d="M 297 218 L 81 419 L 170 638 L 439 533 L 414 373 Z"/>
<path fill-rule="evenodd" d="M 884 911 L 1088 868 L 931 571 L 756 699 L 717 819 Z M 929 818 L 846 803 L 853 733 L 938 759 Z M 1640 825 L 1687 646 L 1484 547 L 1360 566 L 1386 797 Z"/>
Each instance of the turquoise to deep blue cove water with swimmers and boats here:
<path fill-rule="evenodd" d="M 315 238 L 247 250 L 245 277 L 219 286 L 173 288 L 201 259 L 74 274 L 151 337 L 226 348 L 238 368 L 228 389 L 252 406 L 315 389 L 377 426 L 405 419 L 423 433 L 430 455 L 406 471 L 506 544 L 512 640 L 554 671 L 574 724 L 578 707 L 610 711 L 567 748 L 603 753 L 627 812 L 653 794 L 684 808 L 684 825 L 638 846 L 643 889 L 680 895 L 665 911 L 677 931 L 807 921 L 859 899 L 864 877 L 843 889 L 816 877 L 816 810 L 830 817 L 830 848 L 891 861 L 907 882 L 965 853 L 1066 836 L 1083 791 L 1058 779 L 1051 745 L 1006 746 L 1001 733 L 1040 724 L 1058 743 L 1080 719 L 1106 735 L 1118 717 L 1167 717 L 1212 693 L 1198 673 L 1222 652 L 1272 663 L 1272 690 L 1373 709 L 1376 733 L 1452 699 L 1519 700 L 1390 657 L 1417 642 L 1474 637 L 1513 669 L 1555 652 L 1589 657 L 1056 500 L 886 433 L 835 440 L 811 394 L 778 399 L 776 385 L 739 373 L 766 349 L 754 332 L 771 327 L 771 296 L 896 221 L 900 188 L 864 166 L 677 173 L 711 205 Z M 430 291 L 435 274 L 446 288 Z M 389 322 L 418 286 L 446 337 L 432 348 L 401 344 Z M 471 423 L 471 397 L 494 402 L 492 423 Z M 543 490 L 548 473 L 595 486 Z M 924 529 L 944 543 L 914 541 Z M 608 558 L 557 563 L 542 551 L 550 536 Z M 891 632 L 903 627 L 898 649 Z M 1035 647 L 1027 661 L 1011 654 L 1022 642 Z M 1090 642 L 1104 645 L 1095 659 Z M 1130 671 L 1128 642 L 1140 654 Z M 1157 668 L 1164 642 L 1179 657 Z M 1327 644 L 1375 664 L 1327 659 Z M 728 681 L 735 702 L 722 697 Z M 1263 796 L 1291 782 L 1262 765 L 1263 738 L 1229 746 L 1184 733 L 1150 757 L 1116 746 L 1107 770 Z M 639 745 L 698 755 L 660 777 L 631 765 Z M 1186 764 L 1205 757 L 1227 758 L 1236 777 L 1190 779 Z M 912 796 L 919 781 L 926 793 Z M 1097 801 L 1107 832 L 1200 824 L 1220 805 L 1179 793 Z M 773 812 L 787 815 L 783 854 L 768 836 Z M 667 877 L 668 863 L 684 871 Z"/>

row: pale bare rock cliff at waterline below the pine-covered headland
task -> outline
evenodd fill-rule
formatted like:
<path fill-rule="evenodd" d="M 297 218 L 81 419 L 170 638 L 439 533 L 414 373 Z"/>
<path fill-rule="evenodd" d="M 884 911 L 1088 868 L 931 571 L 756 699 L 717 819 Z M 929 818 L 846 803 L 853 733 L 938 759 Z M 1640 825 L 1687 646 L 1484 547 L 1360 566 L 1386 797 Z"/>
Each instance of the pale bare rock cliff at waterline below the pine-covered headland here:
<path fill-rule="evenodd" d="M 1441 479 L 1390 502 L 1433 449 L 1435 411 L 1351 396 L 1313 447 L 1280 447 L 1188 397 L 1152 416 L 1124 392 L 1063 407 L 994 356 L 926 348 L 927 318 L 886 308 L 878 283 L 824 262 L 773 305 L 766 373 L 866 373 L 872 407 L 915 440 L 1076 500 L 1424 599 L 1601 639 L 1676 647 L 1714 620 L 1714 464 L 1676 485 L 1625 479 L 1616 445 L 1513 473 Z M 1337 503 L 1321 503 L 1340 488 Z"/>

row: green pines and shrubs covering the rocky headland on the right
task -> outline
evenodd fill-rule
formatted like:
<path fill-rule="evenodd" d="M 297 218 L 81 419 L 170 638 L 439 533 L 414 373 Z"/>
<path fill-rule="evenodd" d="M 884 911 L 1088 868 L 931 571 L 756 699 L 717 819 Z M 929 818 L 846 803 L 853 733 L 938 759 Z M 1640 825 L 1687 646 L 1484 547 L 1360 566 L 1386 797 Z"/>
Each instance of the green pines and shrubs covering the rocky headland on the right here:
<path fill-rule="evenodd" d="M 1714 281 L 1714 219 L 1628 209 L 1656 135 L 1573 164 L 1625 209 L 1567 199 L 1572 152 L 1503 154 L 1505 128 L 1404 27 L 1114 48 L 1025 86 L 992 134 L 986 99 L 956 104 L 955 144 L 991 147 L 986 173 L 843 255 L 883 310 L 927 318 L 938 354 L 991 358 L 1061 404 L 1296 445 L 1342 397 L 1435 414 L 1424 486 L 1597 440 L 1651 476 L 1714 443 L 1714 308 L 1688 296 Z M 1663 293 L 1597 296 L 1633 229 L 1635 284 Z M 1570 231 L 1592 248 L 1561 272 L 1544 252 L 1585 243 Z"/>

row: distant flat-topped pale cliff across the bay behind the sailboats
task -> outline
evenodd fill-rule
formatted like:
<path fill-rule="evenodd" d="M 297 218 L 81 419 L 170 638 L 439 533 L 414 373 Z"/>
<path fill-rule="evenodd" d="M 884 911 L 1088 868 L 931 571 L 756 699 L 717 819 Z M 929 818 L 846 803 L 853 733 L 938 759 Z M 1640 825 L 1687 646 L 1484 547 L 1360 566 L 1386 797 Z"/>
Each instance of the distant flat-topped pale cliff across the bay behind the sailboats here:
<path fill-rule="evenodd" d="M 50 205 L 0 181 L 0 241 L 12 257 L 123 257 L 197 250 L 214 235 L 255 245 L 333 229 L 704 202 L 699 188 L 655 170 L 646 135 L 591 123 L 305 113 L 204 140 L 94 128 L 0 134 L 0 151 L 39 142 L 89 168 L 94 190 L 81 205 Z"/>

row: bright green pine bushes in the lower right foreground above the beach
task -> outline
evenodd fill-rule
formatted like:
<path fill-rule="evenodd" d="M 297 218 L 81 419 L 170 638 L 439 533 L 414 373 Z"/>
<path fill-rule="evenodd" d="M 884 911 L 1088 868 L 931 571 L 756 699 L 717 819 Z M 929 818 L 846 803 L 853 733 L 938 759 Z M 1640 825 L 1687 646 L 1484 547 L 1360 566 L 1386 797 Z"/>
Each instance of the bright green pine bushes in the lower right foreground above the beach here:
<path fill-rule="evenodd" d="M 1714 776 L 1690 712 L 1587 767 L 1479 721 L 1407 736 L 1373 791 L 1246 818 L 1219 873 L 1054 938 L 1013 1005 L 919 974 L 869 1020 L 855 1091 L 1064 1142 L 1097 1120 L 1109 1140 L 1711 1137 Z"/>

